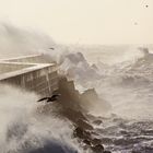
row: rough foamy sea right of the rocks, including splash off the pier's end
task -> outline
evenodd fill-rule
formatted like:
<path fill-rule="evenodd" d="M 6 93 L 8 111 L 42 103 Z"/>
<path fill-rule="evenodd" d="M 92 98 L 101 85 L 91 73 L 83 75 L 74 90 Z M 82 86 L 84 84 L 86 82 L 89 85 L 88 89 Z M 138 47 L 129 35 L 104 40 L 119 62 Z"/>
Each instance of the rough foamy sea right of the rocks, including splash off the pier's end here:
<path fill-rule="evenodd" d="M 96 50 L 97 49 L 97 50 Z M 105 46 L 66 56 L 61 69 L 80 91 L 94 87 L 104 101 L 90 113 L 102 117 L 98 138 L 114 153 L 153 152 L 153 55 L 139 46 Z M 75 58 L 74 58 L 75 57 Z"/>

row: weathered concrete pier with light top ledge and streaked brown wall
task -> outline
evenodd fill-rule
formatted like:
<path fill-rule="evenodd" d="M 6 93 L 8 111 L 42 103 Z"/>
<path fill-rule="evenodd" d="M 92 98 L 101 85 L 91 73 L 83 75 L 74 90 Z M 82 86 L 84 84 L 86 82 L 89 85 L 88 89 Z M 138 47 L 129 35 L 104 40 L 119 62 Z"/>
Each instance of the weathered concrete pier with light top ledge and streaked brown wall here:
<path fill-rule="evenodd" d="M 57 67 L 44 55 L 3 59 L 0 61 L 0 83 L 48 96 L 58 89 Z"/>

